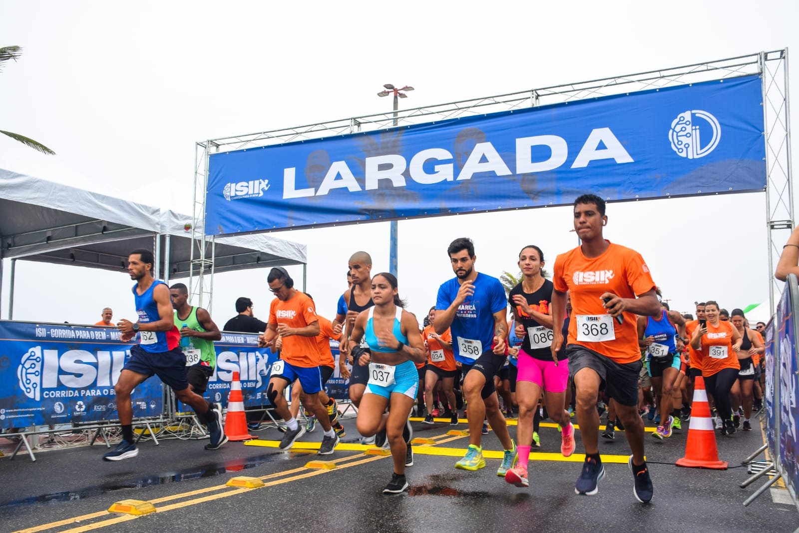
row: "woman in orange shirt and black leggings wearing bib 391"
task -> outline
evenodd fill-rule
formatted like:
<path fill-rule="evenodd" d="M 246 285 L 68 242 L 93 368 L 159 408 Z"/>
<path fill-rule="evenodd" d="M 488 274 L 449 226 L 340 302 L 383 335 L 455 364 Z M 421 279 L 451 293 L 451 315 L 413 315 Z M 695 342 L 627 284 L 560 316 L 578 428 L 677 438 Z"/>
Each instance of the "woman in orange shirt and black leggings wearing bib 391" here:
<path fill-rule="evenodd" d="M 732 435 L 735 426 L 729 391 L 741 370 L 737 358 L 741 334 L 733 324 L 719 320 L 718 303 L 714 300 L 705 303 L 705 320 L 699 320 L 690 344 L 699 354 L 707 392 L 713 395 L 716 403 L 722 424 L 721 435 Z"/>

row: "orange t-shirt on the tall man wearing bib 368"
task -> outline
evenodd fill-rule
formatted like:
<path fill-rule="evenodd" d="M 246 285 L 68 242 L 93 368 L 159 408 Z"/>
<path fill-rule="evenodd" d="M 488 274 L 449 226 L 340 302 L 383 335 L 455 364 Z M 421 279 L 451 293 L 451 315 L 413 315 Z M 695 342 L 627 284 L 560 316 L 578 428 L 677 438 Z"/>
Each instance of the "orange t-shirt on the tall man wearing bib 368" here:
<path fill-rule="evenodd" d="M 599 296 L 613 292 L 621 298 L 635 298 L 654 289 L 655 284 L 641 254 L 610 241 L 608 245 L 593 259 L 585 257 L 579 246 L 560 254 L 552 283 L 555 290 L 569 291 L 571 296 L 568 344 L 580 344 L 620 364 L 634 363 L 641 359 L 637 316 L 625 311 L 624 321 L 618 324 Z"/>

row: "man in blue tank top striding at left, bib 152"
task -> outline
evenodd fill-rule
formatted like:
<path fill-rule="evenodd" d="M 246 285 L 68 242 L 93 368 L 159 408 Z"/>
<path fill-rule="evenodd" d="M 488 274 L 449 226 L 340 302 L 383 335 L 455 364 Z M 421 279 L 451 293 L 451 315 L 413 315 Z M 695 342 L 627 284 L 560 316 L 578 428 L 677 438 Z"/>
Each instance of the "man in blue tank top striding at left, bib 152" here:
<path fill-rule="evenodd" d="M 205 445 L 206 450 L 216 450 L 228 441 L 222 432 L 221 409 L 207 404 L 202 396 L 189 388 L 186 356 L 181 352 L 181 334 L 175 327 L 169 288 L 163 281 L 153 278 L 153 263 L 153 253 L 145 249 L 133 250 L 128 257 L 130 279 L 136 280 L 133 299 L 139 317 L 136 322 L 122 319 L 117 328 L 123 342 L 132 340 L 138 333 L 139 343 L 130 348 L 130 358 L 114 385 L 122 441 L 113 451 L 103 455 L 106 461 L 121 461 L 139 454 L 136 444 L 133 444 L 130 393 L 153 374 L 173 389 L 177 400 L 191 405 L 197 416 L 208 424 L 211 442 Z"/>

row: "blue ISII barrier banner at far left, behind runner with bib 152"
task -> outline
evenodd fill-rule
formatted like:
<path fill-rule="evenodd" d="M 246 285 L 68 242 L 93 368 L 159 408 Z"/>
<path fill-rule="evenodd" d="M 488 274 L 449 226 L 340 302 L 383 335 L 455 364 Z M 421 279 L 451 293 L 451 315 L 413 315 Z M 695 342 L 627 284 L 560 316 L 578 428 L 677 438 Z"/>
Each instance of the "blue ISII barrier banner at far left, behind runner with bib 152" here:
<path fill-rule="evenodd" d="M 0 321 L 0 428 L 117 419 L 113 386 L 131 343 L 114 328 Z M 133 416 L 158 416 L 161 381 L 132 396 Z"/>

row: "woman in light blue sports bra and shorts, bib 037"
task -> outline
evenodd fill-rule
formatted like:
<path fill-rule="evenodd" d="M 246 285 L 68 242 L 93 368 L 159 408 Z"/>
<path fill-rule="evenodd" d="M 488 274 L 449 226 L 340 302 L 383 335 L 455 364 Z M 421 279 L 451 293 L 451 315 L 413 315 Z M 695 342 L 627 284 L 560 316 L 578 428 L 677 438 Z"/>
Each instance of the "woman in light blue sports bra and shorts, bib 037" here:
<path fill-rule="evenodd" d="M 427 360 L 419 323 L 403 309 L 397 295 L 397 280 L 388 272 L 372 277 L 372 301 L 375 306 L 360 312 L 350 336 L 350 347 L 360 344 L 363 337 L 369 352 L 362 352 L 353 364 L 369 365 L 369 381 L 358 409 L 358 432 L 376 435 L 378 446 L 388 438 L 394 459 L 394 475 L 384 494 L 399 494 L 407 490 L 405 467 L 413 464 L 411 449 L 411 415 L 419 373 L 415 363 Z M 390 405 L 391 410 L 386 413 Z M 380 436 L 384 435 L 384 439 Z M 381 442 L 382 441 L 382 442 Z"/>

